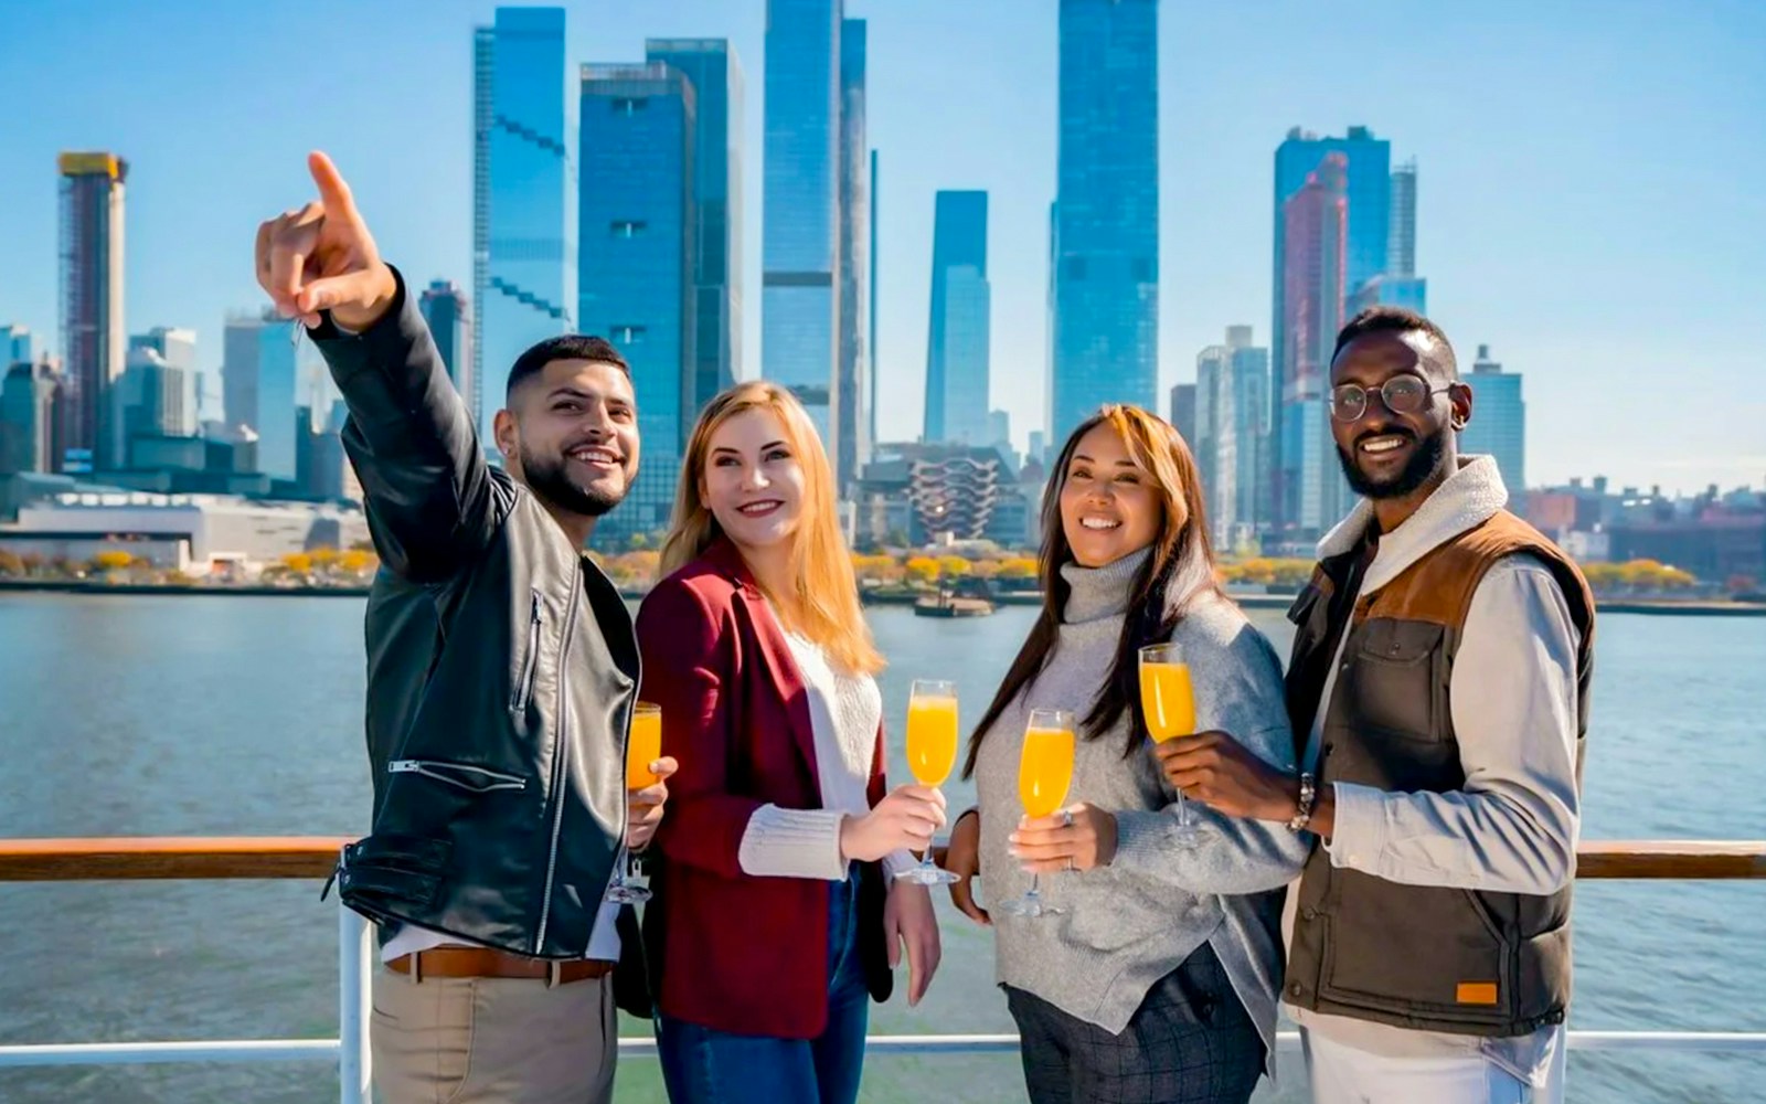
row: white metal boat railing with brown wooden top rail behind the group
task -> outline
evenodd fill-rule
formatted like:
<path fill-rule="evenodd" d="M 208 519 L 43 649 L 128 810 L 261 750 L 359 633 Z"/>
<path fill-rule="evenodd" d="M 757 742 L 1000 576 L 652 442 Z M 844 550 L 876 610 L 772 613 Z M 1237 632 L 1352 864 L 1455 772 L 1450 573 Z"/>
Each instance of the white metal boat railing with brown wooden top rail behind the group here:
<path fill-rule="evenodd" d="M 14 839 L 0 841 L 0 881 L 101 881 L 113 878 L 323 878 L 343 837 L 288 839 Z M 1579 878 L 1766 878 L 1766 843 L 1589 843 Z M 337 910 L 337 1039 L 226 1039 L 189 1042 L 71 1042 L 0 1046 L 0 1069 L 53 1065 L 154 1065 L 210 1062 L 330 1062 L 343 1104 L 367 1104 L 367 1047 L 374 940 L 357 913 Z M 1766 1032 L 1568 1033 L 1572 1051 L 1766 1053 Z M 1014 1055 L 1017 1035 L 871 1035 L 876 1055 Z M 1280 1032 L 1277 1051 L 1298 1051 Z M 653 1058 L 650 1037 L 620 1039 L 622 1058 Z"/>

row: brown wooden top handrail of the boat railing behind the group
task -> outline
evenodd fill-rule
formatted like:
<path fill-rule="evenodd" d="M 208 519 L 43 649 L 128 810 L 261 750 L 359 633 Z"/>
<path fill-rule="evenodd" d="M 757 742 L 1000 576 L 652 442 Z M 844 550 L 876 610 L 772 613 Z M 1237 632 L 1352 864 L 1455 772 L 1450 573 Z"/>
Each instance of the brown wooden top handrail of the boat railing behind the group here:
<path fill-rule="evenodd" d="M 350 836 L 0 839 L 0 881 L 132 878 L 325 878 Z M 1577 878 L 1766 878 L 1766 841 L 1602 839 L 1577 850 Z"/>

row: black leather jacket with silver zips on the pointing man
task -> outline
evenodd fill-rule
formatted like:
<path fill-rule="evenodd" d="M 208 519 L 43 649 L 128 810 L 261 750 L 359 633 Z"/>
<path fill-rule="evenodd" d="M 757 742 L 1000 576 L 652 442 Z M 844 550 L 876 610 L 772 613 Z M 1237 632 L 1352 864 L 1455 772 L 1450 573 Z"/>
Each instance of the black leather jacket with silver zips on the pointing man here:
<path fill-rule="evenodd" d="M 360 336 L 313 330 L 350 406 L 381 571 L 367 602 L 373 834 L 343 901 L 547 959 L 583 957 L 625 834 L 638 641 L 613 583 L 491 468 L 399 281 Z"/>

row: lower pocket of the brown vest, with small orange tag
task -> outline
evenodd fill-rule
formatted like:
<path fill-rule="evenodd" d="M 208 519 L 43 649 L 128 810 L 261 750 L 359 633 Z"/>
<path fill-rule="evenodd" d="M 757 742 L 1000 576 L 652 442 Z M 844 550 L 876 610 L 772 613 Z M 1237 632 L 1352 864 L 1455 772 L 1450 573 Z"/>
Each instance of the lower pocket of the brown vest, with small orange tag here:
<path fill-rule="evenodd" d="M 1328 901 L 1323 1000 L 1473 1032 L 1513 1017 L 1513 943 L 1473 892 L 1335 869 Z"/>

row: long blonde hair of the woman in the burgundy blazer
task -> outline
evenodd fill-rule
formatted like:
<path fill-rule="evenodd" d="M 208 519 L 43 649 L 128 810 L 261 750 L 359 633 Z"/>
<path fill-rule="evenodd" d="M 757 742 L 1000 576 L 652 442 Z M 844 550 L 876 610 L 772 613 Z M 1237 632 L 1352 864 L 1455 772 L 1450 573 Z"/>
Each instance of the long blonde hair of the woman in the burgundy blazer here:
<path fill-rule="evenodd" d="M 687 440 L 687 456 L 675 493 L 675 516 L 662 541 L 660 574 L 669 576 L 699 556 L 722 535 L 722 526 L 705 505 L 699 484 L 705 479 L 712 436 L 719 426 L 747 410 L 770 410 L 784 427 L 784 440 L 804 468 L 804 510 L 791 535 L 791 579 L 795 594 L 777 595 L 774 606 L 789 618 L 789 629 L 821 645 L 828 655 L 853 675 L 883 669 L 883 655 L 871 641 L 871 627 L 858 606 L 858 579 L 853 558 L 841 539 L 839 509 L 834 500 L 834 470 L 821 447 L 809 412 L 784 387 L 765 380 L 736 383 L 706 403 Z M 788 599 L 788 601 L 781 601 Z"/>

